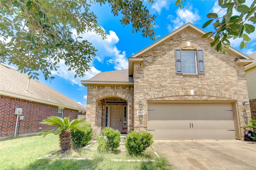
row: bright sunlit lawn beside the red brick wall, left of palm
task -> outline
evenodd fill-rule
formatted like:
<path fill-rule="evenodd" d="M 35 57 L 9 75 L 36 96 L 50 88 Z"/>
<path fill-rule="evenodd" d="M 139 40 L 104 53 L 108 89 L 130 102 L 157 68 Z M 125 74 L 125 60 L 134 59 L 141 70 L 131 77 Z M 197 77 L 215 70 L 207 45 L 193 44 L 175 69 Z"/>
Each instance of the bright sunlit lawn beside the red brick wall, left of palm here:
<path fill-rule="evenodd" d="M 26 169 L 37 158 L 59 149 L 59 137 L 54 134 L 0 140 L 0 169 Z"/>

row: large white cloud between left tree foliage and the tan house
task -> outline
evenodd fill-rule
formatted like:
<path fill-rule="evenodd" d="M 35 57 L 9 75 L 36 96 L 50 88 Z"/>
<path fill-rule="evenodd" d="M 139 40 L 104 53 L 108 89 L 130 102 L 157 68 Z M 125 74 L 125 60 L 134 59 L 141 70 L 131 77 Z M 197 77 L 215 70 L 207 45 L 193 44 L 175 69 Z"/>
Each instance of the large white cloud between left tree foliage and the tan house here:
<path fill-rule="evenodd" d="M 76 30 L 72 30 L 72 32 L 73 35 L 77 37 Z M 107 62 L 108 64 L 113 64 L 114 69 L 128 68 L 128 59 L 126 58 L 126 52 L 121 52 L 116 47 L 116 43 L 119 42 L 119 38 L 115 32 L 110 31 L 109 34 L 107 34 L 107 38 L 105 40 L 102 40 L 102 37 L 96 34 L 95 32 L 86 32 L 85 34 L 80 34 L 79 36 L 82 37 L 81 41 L 88 40 L 96 49 L 98 49 L 98 51 L 96 51 L 96 57 L 94 59 L 97 59 L 100 62 Z M 104 61 L 105 58 L 110 59 Z M 90 79 L 94 75 L 101 72 L 100 70 L 96 69 L 96 67 L 93 65 L 93 61 L 90 64 L 90 71 L 87 71 L 85 73 L 85 76 L 82 78 L 74 78 L 75 72 L 73 70 L 68 71 L 68 66 L 65 65 L 64 60 L 60 60 L 58 66 L 60 66 L 58 68 L 58 71 L 52 71 L 52 75 L 58 75 L 59 77 L 62 77 L 67 81 L 70 81 L 72 85 L 77 84 L 80 87 L 83 86 L 80 83 L 81 80 Z"/>

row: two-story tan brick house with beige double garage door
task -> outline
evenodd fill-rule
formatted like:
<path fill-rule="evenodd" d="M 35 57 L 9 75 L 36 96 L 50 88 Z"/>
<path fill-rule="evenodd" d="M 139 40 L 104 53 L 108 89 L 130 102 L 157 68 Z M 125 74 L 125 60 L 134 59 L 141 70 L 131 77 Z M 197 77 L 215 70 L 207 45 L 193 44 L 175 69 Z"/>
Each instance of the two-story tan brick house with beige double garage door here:
<path fill-rule="evenodd" d="M 99 73 L 88 87 L 86 121 L 154 139 L 241 139 L 251 119 L 244 65 L 230 47 L 210 47 L 187 23 L 129 57 L 129 69 Z"/>

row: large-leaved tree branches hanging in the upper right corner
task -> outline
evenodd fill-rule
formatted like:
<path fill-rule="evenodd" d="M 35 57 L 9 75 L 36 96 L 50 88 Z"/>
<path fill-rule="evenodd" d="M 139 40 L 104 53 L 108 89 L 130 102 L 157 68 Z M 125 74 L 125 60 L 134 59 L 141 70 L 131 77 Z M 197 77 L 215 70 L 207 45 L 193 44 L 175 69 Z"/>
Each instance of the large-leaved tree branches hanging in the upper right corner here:
<path fill-rule="evenodd" d="M 182 8 L 184 0 L 177 0 L 176 6 Z M 216 51 L 225 51 L 230 46 L 229 39 L 243 38 L 240 48 L 246 47 L 246 44 L 251 40 L 248 34 L 255 31 L 255 26 L 249 23 L 256 23 L 256 0 L 252 0 L 249 6 L 244 3 L 246 0 L 218 0 L 218 4 L 222 10 L 226 10 L 224 16 L 219 16 L 216 13 L 209 13 L 210 18 L 202 28 L 210 25 L 214 26 L 214 30 L 202 36 L 202 38 L 211 38 L 214 36 L 214 41 L 210 43 L 211 47 L 215 47 Z M 234 15 L 236 12 L 239 15 Z"/>

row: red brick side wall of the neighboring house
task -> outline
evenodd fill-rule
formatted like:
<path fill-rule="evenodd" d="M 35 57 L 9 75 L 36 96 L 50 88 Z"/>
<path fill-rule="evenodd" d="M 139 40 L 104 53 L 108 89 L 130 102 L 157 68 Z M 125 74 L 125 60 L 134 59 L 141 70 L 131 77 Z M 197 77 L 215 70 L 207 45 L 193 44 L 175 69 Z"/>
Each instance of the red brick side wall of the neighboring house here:
<path fill-rule="evenodd" d="M 18 119 L 16 136 L 18 132 L 19 135 L 25 135 L 56 128 L 42 125 L 40 122 L 50 116 L 57 116 L 58 106 L 0 95 L 0 138 L 14 136 L 17 119 L 17 115 L 14 114 L 16 107 L 22 108 L 22 116 L 24 116 L 24 120 Z M 63 117 L 70 116 L 70 120 L 73 120 L 76 119 L 76 115 L 78 111 L 64 109 Z"/>

